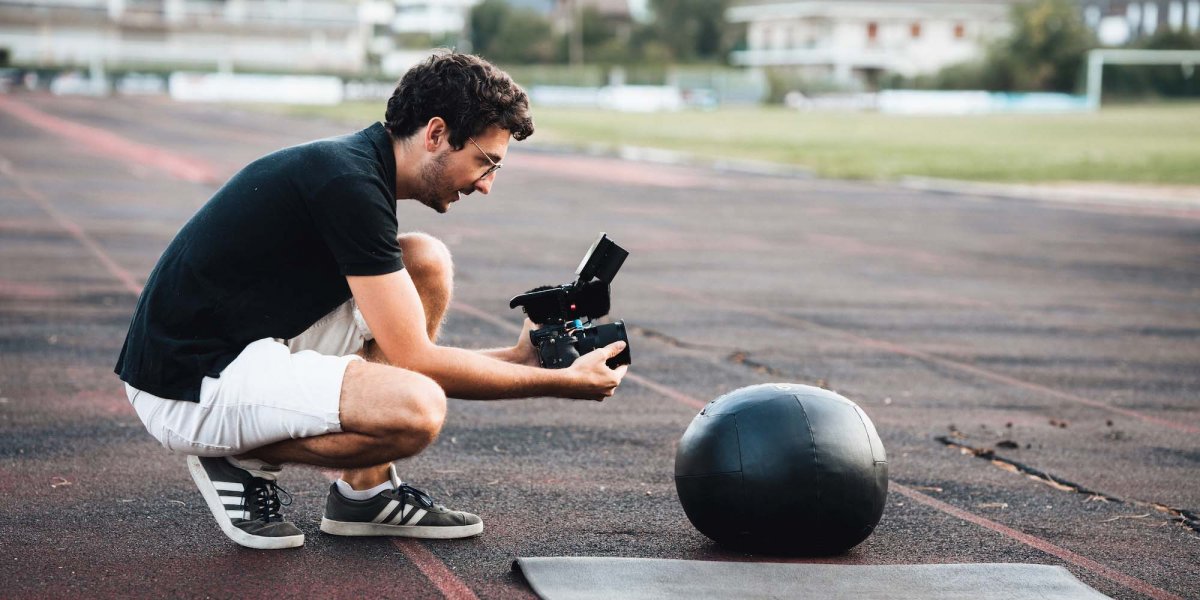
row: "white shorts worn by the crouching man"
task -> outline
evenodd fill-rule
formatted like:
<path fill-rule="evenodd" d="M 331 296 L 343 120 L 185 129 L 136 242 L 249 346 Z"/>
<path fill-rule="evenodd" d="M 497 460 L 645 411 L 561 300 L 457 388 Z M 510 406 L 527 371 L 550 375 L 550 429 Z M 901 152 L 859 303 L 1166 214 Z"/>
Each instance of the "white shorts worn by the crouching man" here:
<path fill-rule="evenodd" d="M 342 431 L 342 377 L 371 340 L 350 300 L 292 340 L 251 343 L 200 383 L 200 401 L 160 398 L 126 384 L 130 403 L 167 449 L 230 456 L 284 439 Z"/>

